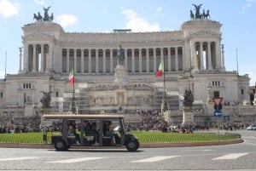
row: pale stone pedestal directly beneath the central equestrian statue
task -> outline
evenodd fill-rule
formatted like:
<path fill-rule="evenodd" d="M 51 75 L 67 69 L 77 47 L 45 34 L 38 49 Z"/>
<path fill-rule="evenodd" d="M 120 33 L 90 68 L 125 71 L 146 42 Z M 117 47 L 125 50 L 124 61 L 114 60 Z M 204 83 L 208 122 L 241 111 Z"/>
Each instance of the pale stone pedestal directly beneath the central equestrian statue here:
<path fill-rule="evenodd" d="M 118 65 L 114 68 L 114 83 L 126 85 L 128 83 L 128 74 L 125 66 Z"/>

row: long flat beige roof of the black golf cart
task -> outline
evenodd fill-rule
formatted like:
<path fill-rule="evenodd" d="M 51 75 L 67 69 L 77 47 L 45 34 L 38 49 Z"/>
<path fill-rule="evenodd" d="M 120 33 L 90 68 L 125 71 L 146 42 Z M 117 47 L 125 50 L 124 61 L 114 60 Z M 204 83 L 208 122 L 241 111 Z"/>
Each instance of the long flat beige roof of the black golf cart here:
<path fill-rule="evenodd" d="M 123 115 L 113 115 L 113 114 L 94 114 L 94 115 L 74 115 L 74 114 L 53 114 L 44 115 L 44 119 L 119 119 L 124 118 Z"/>

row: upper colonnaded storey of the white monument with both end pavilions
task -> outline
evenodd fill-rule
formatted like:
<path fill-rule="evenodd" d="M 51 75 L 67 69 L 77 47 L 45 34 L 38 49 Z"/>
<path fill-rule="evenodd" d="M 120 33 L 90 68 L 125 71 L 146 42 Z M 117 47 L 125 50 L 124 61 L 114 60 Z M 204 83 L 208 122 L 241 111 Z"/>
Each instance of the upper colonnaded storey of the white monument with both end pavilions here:
<path fill-rule="evenodd" d="M 67 33 L 53 22 L 36 22 L 23 27 L 24 62 L 22 65 L 20 59 L 20 71 L 68 73 L 74 66 L 78 74 L 113 73 L 119 44 L 125 48 L 129 73 L 155 72 L 161 60 L 166 61 L 168 72 L 224 71 L 220 26 L 212 20 L 190 20 L 180 31 Z"/>

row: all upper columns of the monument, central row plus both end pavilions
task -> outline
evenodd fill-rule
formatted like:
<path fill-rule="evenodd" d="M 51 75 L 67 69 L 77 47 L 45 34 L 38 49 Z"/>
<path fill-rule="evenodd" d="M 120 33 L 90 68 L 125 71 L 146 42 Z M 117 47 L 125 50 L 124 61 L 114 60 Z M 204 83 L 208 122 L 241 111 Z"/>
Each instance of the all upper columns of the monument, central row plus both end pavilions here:
<path fill-rule="evenodd" d="M 224 49 L 216 42 L 190 43 L 191 67 L 195 71 L 224 69 Z M 27 44 L 24 46 L 23 71 L 45 72 L 52 67 L 51 46 Z M 61 48 L 61 71 L 75 73 L 109 73 L 117 65 L 117 48 Z M 155 72 L 165 60 L 165 71 L 184 70 L 183 47 L 125 48 L 124 65 L 128 72 Z M 53 66 L 54 67 L 54 66 Z"/>

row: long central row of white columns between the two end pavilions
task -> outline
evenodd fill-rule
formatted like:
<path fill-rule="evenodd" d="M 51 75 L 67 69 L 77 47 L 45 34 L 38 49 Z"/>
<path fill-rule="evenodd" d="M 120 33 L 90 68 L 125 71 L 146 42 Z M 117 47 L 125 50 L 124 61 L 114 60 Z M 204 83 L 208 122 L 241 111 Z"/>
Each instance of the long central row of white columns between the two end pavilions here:
<path fill-rule="evenodd" d="M 108 73 L 117 65 L 117 48 L 62 48 L 62 72 Z M 165 60 L 165 71 L 183 70 L 183 48 L 125 48 L 128 72 L 154 72 Z"/>

